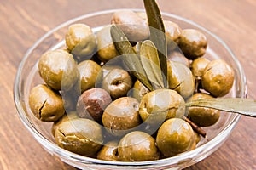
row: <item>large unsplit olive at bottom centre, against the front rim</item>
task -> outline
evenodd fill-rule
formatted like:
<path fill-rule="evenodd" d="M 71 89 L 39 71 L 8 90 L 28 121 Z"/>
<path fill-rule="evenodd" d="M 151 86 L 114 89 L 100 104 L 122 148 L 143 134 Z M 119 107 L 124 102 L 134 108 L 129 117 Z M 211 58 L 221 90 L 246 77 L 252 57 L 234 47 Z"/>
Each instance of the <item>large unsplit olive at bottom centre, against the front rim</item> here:
<path fill-rule="evenodd" d="M 134 131 L 119 141 L 120 161 L 154 161 L 160 158 L 155 140 L 148 133 Z"/>

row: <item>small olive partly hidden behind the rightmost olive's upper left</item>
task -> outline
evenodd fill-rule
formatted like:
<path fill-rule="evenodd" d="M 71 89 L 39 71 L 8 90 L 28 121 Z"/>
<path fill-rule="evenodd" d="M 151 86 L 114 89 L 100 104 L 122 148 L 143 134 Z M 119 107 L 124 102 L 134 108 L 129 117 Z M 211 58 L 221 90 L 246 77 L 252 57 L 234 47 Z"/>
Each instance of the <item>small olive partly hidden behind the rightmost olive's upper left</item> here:
<path fill-rule="evenodd" d="M 194 77 L 201 78 L 210 60 L 204 57 L 195 59 L 191 63 L 191 71 Z"/>

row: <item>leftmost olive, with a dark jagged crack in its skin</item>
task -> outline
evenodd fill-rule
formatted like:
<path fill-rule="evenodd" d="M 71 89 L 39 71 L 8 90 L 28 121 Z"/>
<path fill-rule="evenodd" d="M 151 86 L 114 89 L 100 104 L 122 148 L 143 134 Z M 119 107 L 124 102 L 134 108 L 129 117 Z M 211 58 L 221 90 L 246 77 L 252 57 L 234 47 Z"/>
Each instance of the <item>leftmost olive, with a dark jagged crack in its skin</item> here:
<path fill-rule="evenodd" d="M 34 116 L 43 122 L 55 122 L 65 113 L 61 94 L 44 84 L 32 88 L 29 106 Z"/>

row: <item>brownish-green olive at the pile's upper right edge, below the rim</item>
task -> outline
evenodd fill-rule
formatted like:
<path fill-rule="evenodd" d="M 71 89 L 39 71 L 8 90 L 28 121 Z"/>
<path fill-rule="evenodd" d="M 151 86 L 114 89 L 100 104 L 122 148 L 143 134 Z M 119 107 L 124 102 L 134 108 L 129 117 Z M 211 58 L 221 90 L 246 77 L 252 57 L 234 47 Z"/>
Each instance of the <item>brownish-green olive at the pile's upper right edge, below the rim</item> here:
<path fill-rule="evenodd" d="M 207 37 L 201 31 L 184 29 L 178 46 L 188 59 L 197 59 L 206 53 Z"/>

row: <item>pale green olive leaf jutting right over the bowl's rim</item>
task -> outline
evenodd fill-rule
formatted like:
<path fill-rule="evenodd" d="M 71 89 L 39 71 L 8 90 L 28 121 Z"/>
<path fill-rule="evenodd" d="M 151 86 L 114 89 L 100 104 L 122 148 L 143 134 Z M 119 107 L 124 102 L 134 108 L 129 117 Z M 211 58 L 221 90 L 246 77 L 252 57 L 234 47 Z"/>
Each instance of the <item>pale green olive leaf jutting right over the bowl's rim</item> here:
<path fill-rule="evenodd" d="M 187 107 L 207 107 L 220 111 L 256 117 L 256 101 L 241 98 L 197 99 L 186 103 Z"/>

